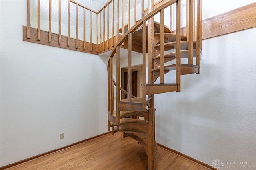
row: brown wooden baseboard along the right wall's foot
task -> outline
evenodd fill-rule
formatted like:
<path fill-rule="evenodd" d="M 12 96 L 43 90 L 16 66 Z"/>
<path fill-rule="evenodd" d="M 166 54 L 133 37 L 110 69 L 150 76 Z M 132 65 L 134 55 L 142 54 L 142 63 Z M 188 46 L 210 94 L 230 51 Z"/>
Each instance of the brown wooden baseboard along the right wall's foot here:
<path fill-rule="evenodd" d="M 161 144 L 157 143 L 157 146 L 161 147 L 162 149 L 165 149 L 165 150 L 167 150 L 169 152 L 172 152 L 173 154 L 176 154 L 176 155 L 178 155 L 178 156 L 180 156 L 180 157 L 182 157 L 182 158 L 184 158 L 186 160 L 189 160 L 189 161 L 193 162 L 194 164 L 198 164 L 198 165 L 202 166 L 203 168 L 206 168 L 208 170 L 217 170 L 216 168 L 214 168 L 214 167 L 212 167 L 212 166 L 210 166 L 208 164 L 205 164 L 205 163 L 203 163 L 203 162 L 201 162 L 199 160 L 191 158 L 190 156 L 182 154 L 182 153 L 180 153 L 180 152 L 178 152 L 176 150 L 170 149 L 170 148 L 168 148 L 168 147 L 166 147 L 164 145 L 161 145 Z"/>

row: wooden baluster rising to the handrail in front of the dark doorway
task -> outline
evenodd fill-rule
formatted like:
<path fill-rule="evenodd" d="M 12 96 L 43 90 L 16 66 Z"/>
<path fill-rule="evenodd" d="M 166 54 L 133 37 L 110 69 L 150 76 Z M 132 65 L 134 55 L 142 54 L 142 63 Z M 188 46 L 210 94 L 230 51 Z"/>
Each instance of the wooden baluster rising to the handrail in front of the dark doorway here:
<path fill-rule="evenodd" d="M 128 68 L 127 68 L 127 98 L 128 102 L 132 101 L 132 33 L 128 34 L 127 37 L 127 59 L 128 59 Z"/>

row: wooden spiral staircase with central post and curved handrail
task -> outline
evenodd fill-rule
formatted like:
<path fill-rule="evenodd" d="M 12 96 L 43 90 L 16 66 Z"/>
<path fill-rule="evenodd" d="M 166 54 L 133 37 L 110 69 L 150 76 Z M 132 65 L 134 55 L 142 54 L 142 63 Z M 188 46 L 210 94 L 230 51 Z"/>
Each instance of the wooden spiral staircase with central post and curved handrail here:
<path fill-rule="evenodd" d="M 169 0 L 155 9 L 154 4 L 149 4 L 151 12 L 118 40 L 108 60 L 108 131 L 112 131 L 112 134 L 120 131 L 123 132 L 124 137 L 138 141 L 148 155 L 147 169 L 149 170 L 154 169 L 154 155 L 157 151 L 154 137 L 154 94 L 180 92 L 181 75 L 200 73 L 201 3 L 201 0 L 197 1 L 197 27 L 195 29 L 195 27 L 193 28 L 195 7 L 193 8 L 192 0 L 188 2 L 189 15 L 186 36 L 182 35 L 180 31 L 180 0 Z M 164 9 L 173 4 L 176 4 L 176 31 L 172 31 L 164 25 Z M 158 13 L 160 13 L 160 23 L 154 21 L 154 16 Z M 196 32 L 196 37 L 193 35 L 194 32 Z M 120 87 L 120 48 L 126 48 L 128 51 L 127 91 Z M 140 97 L 132 95 L 131 51 L 142 53 L 143 95 Z M 116 60 L 113 60 L 114 57 Z M 148 57 L 148 63 L 146 63 L 146 57 Z M 182 58 L 187 58 L 186 62 L 182 63 L 184 60 Z M 195 64 L 194 61 L 196 61 Z M 174 64 L 168 64 L 170 62 Z M 114 65 L 116 65 L 116 72 L 114 72 Z M 164 74 L 169 72 L 175 72 L 176 82 L 165 83 Z M 114 80 L 115 76 L 116 80 Z M 146 76 L 148 77 L 147 82 Z M 121 93 L 127 94 L 127 98 L 120 99 Z"/>

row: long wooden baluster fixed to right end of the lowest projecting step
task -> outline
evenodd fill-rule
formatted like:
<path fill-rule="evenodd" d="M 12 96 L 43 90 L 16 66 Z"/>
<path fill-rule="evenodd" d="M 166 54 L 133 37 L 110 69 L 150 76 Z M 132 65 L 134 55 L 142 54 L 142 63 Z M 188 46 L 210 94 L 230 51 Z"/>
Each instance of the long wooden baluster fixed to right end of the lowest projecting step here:
<path fill-rule="evenodd" d="M 180 92 L 180 0 L 176 3 L 176 83 L 178 85 L 177 91 Z"/>

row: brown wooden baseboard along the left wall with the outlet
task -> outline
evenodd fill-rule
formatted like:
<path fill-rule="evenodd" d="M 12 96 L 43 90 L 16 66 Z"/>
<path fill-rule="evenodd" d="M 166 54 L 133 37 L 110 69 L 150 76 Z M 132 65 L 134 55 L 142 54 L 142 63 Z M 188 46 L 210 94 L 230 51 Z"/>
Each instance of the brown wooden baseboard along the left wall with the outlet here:
<path fill-rule="evenodd" d="M 38 155 L 36 155 L 36 156 L 32 156 L 32 157 L 30 157 L 30 158 L 26 158 L 26 159 L 20 160 L 20 161 L 18 161 L 18 162 L 14 162 L 14 163 L 8 164 L 8 165 L 6 165 L 6 166 L 2 166 L 2 167 L 0 167 L 0 170 L 4 170 L 4 169 L 7 169 L 7 168 L 11 168 L 11 167 L 13 167 L 13 166 L 17 166 L 17 165 L 26 163 L 26 162 L 28 162 L 28 161 L 30 161 L 30 160 L 34 160 L 34 159 L 36 159 L 36 158 L 41 158 L 41 157 L 43 157 L 43 156 L 46 156 L 46 155 L 49 155 L 49 154 L 58 152 L 58 151 L 63 150 L 63 149 L 68 149 L 68 148 L 70 148 L 70 147 L 74 147 L 75 145 L 78 145 L 78 144 L 80 144 L 80 143 L 83 143 L 83 142 L 86 142 L 86 141 L 89 141 L 89 140 L 92 140 L 92 139 L 95 139 L 95 138 L 98 138 L 98 137 L 101 137 L 101 136 L 104 136 L 104 135 L 107 135 L 107 134 L 109 134 L 109 133 L 111 133 L 111 132 L 102 133 L 102 134 L 100 134 L 100 135 L 96 135 L 96 136 L 94 136 L 94 137 L 90 137 L 90 138 L 88 138 L 88 139 L 84 139 L 84 140 L 82 140 L 82 141 L 79 141 L 79 142 L 76 142 L 76 143 L 72 143 L 72 144 L 67 145 L 67 146 L 65 146 L 65 147 L 61 147 L 61 148 L 58 148 L 58 149 L 54 149 L 54 150 L 51 150 L 51 151 L 49 151 L 49 152 L 45 152 L 45 153 L 42 153 L 42 154 L 38 154 Z"/>

